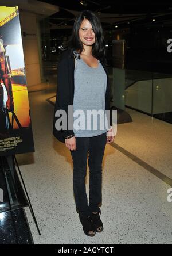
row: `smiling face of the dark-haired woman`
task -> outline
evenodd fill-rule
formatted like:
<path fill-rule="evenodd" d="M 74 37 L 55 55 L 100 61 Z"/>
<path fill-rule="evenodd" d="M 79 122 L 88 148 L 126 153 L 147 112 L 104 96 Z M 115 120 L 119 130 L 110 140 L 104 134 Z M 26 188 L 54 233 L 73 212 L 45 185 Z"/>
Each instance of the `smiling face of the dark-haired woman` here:
<path fill-rule="evenodd" d="M 79 37 L 84 45 L 92 45 L 95 43 L 95 33 L 91 23 L 84 18 L 79 29 Z"/>

